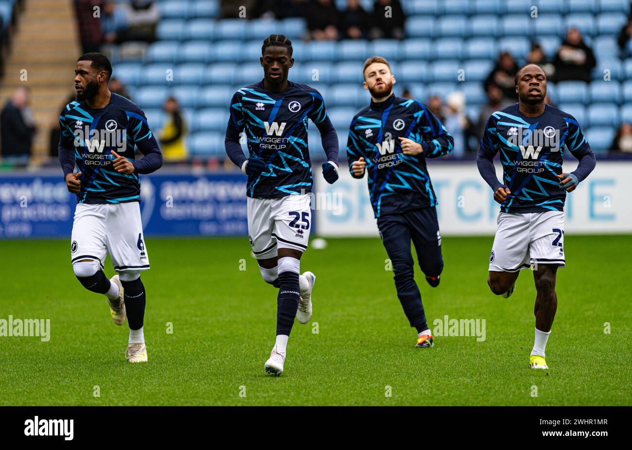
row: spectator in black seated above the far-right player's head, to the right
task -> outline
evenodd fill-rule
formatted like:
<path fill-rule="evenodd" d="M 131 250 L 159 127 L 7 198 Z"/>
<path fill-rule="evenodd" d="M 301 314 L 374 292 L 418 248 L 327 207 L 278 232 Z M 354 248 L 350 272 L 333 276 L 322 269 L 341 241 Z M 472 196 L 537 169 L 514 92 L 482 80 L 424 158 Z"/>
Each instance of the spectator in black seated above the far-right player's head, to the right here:
<path fill-rule="evenodd" d="M 595 55 L 581 37 L 580 30 L 569 28 L 566 39 L 557 50 L 553 64 L 556 82 L 579 80 L 590 83 L 593 68 L 597 65 Z"/>

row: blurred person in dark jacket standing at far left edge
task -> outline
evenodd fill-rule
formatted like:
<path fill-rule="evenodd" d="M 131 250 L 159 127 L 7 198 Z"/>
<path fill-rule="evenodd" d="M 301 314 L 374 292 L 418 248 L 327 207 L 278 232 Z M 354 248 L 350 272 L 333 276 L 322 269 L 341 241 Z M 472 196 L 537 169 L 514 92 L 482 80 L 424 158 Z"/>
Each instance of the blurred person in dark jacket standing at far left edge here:
<path fill-rule="evenodd" d="M 0 113 L 0 142 L 4 162 L 26 166 L 37 126 L 28 106 L 30 91 L 18 87 Z"/>

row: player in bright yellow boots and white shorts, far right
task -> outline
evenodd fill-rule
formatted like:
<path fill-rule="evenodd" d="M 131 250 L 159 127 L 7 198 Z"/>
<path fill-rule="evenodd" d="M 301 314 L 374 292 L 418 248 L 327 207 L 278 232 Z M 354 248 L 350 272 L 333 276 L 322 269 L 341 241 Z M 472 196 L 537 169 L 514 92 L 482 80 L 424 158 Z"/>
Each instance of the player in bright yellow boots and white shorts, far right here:
<path fill-rule="evenodd" d="M 548 369 L 544 350 L 557 310 L 557 268 L 564 267 L 564 200 L 595 168 L 595 155 L 571 114 L 545 104 L 547 77 L 537 64 L 516 73 L 518 103 L 497 111 L 485 126 L 478 171 L 501 204 L 487 284 L 508 298 L 521 269 L 533 270 L 535 343 L 532 368 Z M 580 162 L 562 171 L 563 147 Z M 496 178 L 500 153 L 503 183 Z"/>

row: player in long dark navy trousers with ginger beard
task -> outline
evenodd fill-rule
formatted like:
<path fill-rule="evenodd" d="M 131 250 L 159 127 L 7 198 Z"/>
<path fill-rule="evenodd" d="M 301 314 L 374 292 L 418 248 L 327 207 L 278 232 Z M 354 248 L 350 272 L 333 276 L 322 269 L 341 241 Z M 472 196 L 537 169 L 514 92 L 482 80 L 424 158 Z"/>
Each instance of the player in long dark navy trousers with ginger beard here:
<path fill-rule="evenodd" d="M 349 126 L 349 169 L 354 178 L 368 173 L 371 204 L 399 301 L 417 331 L 416 347 L 429 348 L 434 337 L 415 283 L 410 242 L 426 281 L 437 287 L 443 270 L 441 234 L 426 159 L 451 152 L 453 138 L 425 104 L 393 94 L 395 77 L 386 59 L 368 58 L 362 74 L 371 103 Z"/>

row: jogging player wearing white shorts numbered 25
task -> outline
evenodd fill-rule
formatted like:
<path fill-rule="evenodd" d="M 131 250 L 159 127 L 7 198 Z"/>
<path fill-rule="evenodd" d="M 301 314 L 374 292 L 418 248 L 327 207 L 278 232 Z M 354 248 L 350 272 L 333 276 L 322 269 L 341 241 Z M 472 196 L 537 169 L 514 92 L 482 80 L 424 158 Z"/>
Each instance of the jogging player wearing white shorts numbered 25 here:
<path fill-rule="evenodd" d="M 226 128 L 226 153 L 248 175 L 248 234 L 266 283 L 277 295 L 276 343 L 264 370 L 281 375 L 294 319 L 312 317 L 312 272 L 300 274 L 300 258 L 310 234 L 312 164 L 307 146 L 308 121 L 320 131 L 327 162 L 327 183 L 338 179 L 338 137 L 325 111 L 322 95 L 288 80 L 294 65 L 292 42 L 273 34 L 261 49 L 264 78 L 241 88 L 231 100 Z M 245 131 L 250 157 L 241 150 Z"/>

